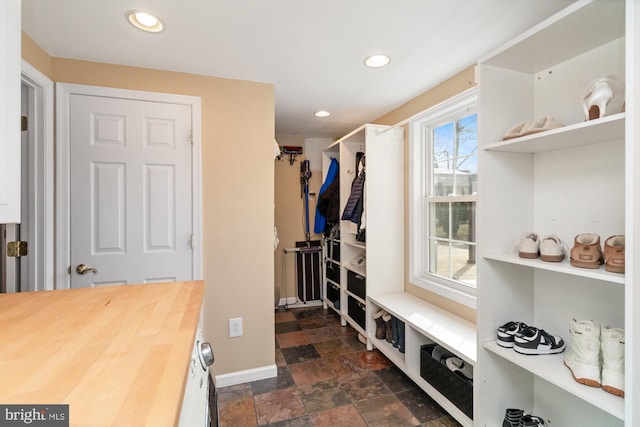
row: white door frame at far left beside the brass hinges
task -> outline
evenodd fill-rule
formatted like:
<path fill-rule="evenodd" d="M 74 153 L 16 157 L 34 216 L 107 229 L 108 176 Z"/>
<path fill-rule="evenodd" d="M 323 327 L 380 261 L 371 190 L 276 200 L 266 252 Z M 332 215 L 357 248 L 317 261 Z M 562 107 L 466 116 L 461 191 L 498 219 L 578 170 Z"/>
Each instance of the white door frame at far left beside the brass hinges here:
<path fill-rule="evenodd" d="M 54 289 L 53 81 L 22 60 L 22 84 L 29 88 L 29 276 L 34 289 Z"/>

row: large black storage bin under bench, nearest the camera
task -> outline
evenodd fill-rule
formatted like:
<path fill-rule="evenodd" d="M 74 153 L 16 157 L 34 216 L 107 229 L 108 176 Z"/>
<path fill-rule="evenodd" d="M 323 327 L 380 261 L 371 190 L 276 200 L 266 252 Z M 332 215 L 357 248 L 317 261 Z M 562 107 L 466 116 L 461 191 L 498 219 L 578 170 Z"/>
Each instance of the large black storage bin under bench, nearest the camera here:
<path fill-rule="evenodd" d="M 420 376 L 473 419 L 473 383 L 454 374 L 431 354 L 437 344 L 420 347 Z"/>

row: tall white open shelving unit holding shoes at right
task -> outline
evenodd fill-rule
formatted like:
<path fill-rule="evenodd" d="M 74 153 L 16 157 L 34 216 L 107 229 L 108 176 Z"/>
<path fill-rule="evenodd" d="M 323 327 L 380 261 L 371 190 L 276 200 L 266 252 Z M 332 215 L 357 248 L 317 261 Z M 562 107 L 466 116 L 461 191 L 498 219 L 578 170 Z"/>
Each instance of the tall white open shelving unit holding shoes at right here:
<path fill-rule="evenodd" d="M 499 325 L 521 320 L 570 345 L 570 320 L 592 319 L 625 328 L 627 373 L 640 366 L 632 322 L 638 291 L 629 259 L 638 239 L 632 208 L 638 131 L 629 108 L 638 99 L 630 91 L 637 75 L 630 57 L 632 37 L 638 38 L 630 28 L 638 27 L 633 3 L 576 2 L 479 61 L 475 425 L 502 425 L 507 408 L 565 427 L 640 422 L 633 421 L 640 405 L 630 379 L 620 398 L 577 383 L 564 354 L 522 356 L 495 344 Z M 585 121 L 584 90 L 605 76 L 615 76 L 620 92 L 605 117 Z M 564 126 L 503 141 L 515 123 L 546 115 Z M 627 272 L 572 267 L 568 255 L 560 263 L 518 258 L 516 243 L 531 231 L 560 236 L 568 251 L 580 233 L 599 234 L 602 242 L 625 234 Z"/>

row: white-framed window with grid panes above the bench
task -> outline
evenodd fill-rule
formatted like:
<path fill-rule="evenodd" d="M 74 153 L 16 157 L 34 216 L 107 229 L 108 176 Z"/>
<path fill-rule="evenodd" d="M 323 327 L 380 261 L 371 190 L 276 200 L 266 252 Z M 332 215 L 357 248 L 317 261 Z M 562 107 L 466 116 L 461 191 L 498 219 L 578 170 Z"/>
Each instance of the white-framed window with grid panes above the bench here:
<path fill-rule="evenodd" d="M 472 89 L 411 123 L 410 283 L 475 307 L 477 94 Z"/>

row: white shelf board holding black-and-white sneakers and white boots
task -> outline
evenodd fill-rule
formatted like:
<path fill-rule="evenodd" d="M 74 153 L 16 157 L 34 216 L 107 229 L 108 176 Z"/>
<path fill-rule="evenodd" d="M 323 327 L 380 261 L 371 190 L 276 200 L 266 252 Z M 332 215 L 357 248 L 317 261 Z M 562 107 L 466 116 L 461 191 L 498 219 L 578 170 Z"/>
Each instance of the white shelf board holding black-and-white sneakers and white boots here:
<path fill-rule="evenodd" d="M 574 396 L 598 406 L 616 418 L 624 419 L 624 398 L 607 393 L 601 388 L 589 387 L 575 381 L 571 371 L 564 365 L 564 353 L 523 355 L 513 349 L 500 347 L 495 341 L 485 343 L 483 347 Z"/>

